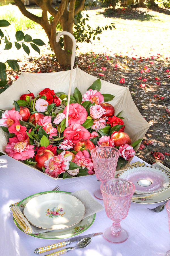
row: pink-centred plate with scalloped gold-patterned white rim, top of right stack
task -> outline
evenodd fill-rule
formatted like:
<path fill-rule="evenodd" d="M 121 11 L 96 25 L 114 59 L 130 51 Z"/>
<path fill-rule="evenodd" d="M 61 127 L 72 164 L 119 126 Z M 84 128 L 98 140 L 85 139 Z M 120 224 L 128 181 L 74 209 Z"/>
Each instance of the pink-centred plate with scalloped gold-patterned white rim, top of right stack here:
<path fill-rule="evenodd" d="M 118 177 L 135 185 L 137 194 L 156 194 L 170 187 L 170 174 L 154 166 L 135 166 L 120 172 Z"/>

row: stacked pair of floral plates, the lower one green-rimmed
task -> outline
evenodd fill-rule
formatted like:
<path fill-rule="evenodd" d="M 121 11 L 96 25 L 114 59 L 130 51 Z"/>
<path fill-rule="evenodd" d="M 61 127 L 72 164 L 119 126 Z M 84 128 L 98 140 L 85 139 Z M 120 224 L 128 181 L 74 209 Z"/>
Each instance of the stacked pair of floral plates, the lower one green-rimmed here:
<path fill-rule="evenodd" d="M 84 205 L 65 191 L 38 193 L 25 198 L 18 206 L 25 206 L 24 216 L 29 223 L 47 229 L 40 234 L 29 234 L 38 238 L 72 237 L 87 230 L 95 220 L 95 214 L 83 219 Z M 20 228 L 15 219 L 14 222 Z"/>

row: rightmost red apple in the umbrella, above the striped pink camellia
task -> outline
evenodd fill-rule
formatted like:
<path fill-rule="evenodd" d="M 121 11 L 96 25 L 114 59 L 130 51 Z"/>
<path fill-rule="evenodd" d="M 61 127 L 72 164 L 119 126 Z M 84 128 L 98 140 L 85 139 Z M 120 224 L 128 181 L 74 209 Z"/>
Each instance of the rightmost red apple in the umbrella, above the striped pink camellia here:
<path fill-rule="evenodd" d="M 114 141 L 115 146 L 122 146 L 125 144 L 131 145 L 131 139 L 125 132 L 116 131 L 112 133 L 111 141 Z"/>

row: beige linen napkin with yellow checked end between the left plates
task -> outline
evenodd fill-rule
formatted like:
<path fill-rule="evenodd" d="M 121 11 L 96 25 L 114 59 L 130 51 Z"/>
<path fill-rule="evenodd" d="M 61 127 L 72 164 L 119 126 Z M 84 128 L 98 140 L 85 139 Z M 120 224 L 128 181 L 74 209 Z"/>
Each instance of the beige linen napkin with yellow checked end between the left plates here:
<path fill-rule="evenodd" d="M 62 192 L 58 192 L 58 193 L 62 193 Z M 83 219 L 101 210 L 104 210 L 104 207 L 97 200 L 95 200 L 94 197 L 86 189 L 73 192 L 71 193 L 71 195 L 75 196 L 77 199 L 79 199 L 83 203 L 85 207 L 85 214 Z M 48 229 L 37 228 L 32 224 L 30 224 L 25 218 L 25 216 L 23 215 L 24 208 L 25 207 L 13 206 L 11 210 L 13 213 L 12 215 L 14 216 L 16 222 L 24 230 L 25 233 L 39 234 L 39 233 L 49 231 Z"/>

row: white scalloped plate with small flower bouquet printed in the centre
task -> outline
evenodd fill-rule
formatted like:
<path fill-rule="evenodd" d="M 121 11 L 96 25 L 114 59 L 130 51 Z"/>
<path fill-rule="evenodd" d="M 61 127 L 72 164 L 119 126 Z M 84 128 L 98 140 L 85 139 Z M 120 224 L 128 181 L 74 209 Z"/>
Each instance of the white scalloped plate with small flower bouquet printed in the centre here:
<path fill-rule="evenodd" d="M 82 220 L 85 207 L 70 194 L 48 193 L 32 198 L 24 208 L 25 218 L 34 226 L 61 230 Z"/>

